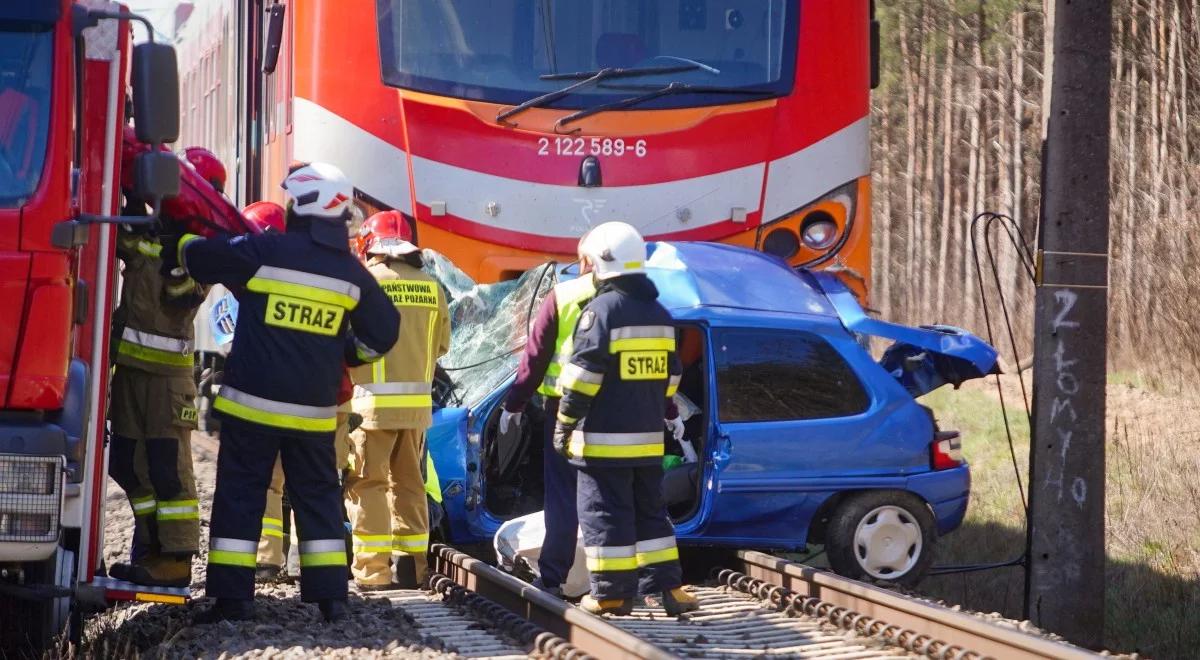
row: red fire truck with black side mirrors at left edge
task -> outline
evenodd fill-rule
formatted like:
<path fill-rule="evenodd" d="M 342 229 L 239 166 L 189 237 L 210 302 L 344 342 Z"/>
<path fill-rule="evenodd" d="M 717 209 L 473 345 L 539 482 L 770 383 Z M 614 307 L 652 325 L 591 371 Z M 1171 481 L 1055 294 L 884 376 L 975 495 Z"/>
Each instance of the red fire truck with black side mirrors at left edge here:
<path fill-rule="evenodd" d="M 161 146 L 179 132 L 175 53 L 132 46 L 131 20 L 102 0 L 0 2 L 0 655 L 89 606 L 182 600 L 97 577 L 113 232 L 154 220 L 116 215 L 130 94 L 149 145 L 130 186 L 157 209 L 180 178 Z"/>

